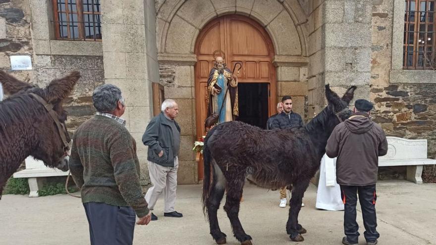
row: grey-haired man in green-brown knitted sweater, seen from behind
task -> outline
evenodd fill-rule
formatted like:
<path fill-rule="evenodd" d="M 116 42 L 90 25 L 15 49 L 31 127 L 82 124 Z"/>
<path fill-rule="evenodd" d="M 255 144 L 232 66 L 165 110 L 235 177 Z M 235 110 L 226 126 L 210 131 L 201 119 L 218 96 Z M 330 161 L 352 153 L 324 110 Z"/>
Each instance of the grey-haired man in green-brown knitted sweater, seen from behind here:
<path fill-rule="evenodd" d="M 121 118 L 125 105 L 118 87 L 100 86 L 92 100 L 97 114 L 74 134 L 68 166 L 81 188 L 91 245 L 131 245 L 135 216 L 138 225 L 151 220 L 136 143 Z"/>

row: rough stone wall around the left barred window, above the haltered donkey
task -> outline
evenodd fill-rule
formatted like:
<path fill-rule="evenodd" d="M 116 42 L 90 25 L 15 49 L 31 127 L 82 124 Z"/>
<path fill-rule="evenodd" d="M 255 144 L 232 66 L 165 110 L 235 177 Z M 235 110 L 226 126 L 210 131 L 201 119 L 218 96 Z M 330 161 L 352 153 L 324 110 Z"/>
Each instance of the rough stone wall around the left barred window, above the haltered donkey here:
<path fill-rule="evenodd" d="M 28 79 L 30 83 L 37 84 L 39 87 L 48 85 L 54 78 L 62 77 L 72 70 L 80 71 L 82 78 L 64 104 L 69 114 L 67 128 L 72 134 L 82 122 L 94 114 L 91 95 L 94 88 L 104 82 L 103 57 L 98 55 L 98 45 L 90 42 L 85 44 L 85 47 L 90 47 L 87 49 L 86 56 L 59 54 L 68 52 L 74 54 L 74 50 L 78 48 L 77 44 L 86 42 L 51 39 L 50 29 L 53 28 L 48 26 L 51 25 L 48 21 L 50 16 L 48 4 L 51 2 L 47 0 L 0 1 L 0 68 L 9 71 L 18 79 Z M 41 11 L 45 15 L 38 15 Z M 41 42 L 47 42 L 48 47 L 38 49 L 36 46 Z M 46 46 L 46 43 L 43 46 Z M 56 51 L 59 47 L 63 49 Z M 79 54 L 80 52 L 83 50 L 79 51 Z M 33 70 L 11 71 L 9 56 L 15 54 L 31 55 Z"/>

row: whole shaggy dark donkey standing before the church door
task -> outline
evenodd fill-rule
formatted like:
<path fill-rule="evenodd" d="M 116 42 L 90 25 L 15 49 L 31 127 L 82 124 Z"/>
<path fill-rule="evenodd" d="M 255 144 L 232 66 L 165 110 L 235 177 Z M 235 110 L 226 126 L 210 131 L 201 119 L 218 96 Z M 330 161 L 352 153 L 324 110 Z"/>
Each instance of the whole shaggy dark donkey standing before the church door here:
<path fill-rule="evenodd" d="M 301 234 L 306 230 L 298 224 L 304 192 L 320 166 L 327 139 L 339 124 L 339 118 L 343 121 L 351 115 L 348 104 L 355 89 L 355 86 L 348 89 L 341 99 L 326 85 L 328 105 L 305 127 L 262 130 L 233 121 L 219 124 L 208 133 L 203 149 L 203 208 L 217 244 L 226 243 L 226 235 L 219 229 L 217 210 L 227 190 L 224 210 L 234 236 L 242 245 L 251 245 L 251 237 L 238 218 L 239 200 L 249 167 L 259 186 L 277 189 L 292 184 L 286 232 L 292 241 L 304 240 Z"/>

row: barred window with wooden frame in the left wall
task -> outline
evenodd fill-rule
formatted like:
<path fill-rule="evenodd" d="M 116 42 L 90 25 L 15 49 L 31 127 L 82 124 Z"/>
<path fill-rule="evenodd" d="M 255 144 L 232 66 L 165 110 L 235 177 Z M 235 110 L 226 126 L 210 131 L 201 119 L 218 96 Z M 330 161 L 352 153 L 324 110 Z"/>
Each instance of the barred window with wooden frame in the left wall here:
<path fill-rule="evenodd" d="M 101 41 L 100 0 L 53 0 L 58 40 Z"/>

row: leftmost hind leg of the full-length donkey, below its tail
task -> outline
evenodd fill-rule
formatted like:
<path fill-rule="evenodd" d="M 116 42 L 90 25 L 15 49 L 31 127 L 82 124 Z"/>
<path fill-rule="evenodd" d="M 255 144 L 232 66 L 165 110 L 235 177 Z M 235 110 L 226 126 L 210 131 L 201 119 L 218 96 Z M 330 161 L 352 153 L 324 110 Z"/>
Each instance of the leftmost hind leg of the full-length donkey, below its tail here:
<path fill-rule="evenodd" d="M 221 202 L 222 196 L 224 196 L 224 187 L 220 188 L 216 185 L 216 183 L 214 184 L 215 187 L 206 201 L 209 226 L 211 229 L 211 235 L 214 238 L 214 240 L 217 242 L 217 244 L 225 244 L 227 243 L 225 239 L 226 235 L 222 233 L 221 230 L 219 229 L 218 216 L 217 216 L 219 204 Z"/>

